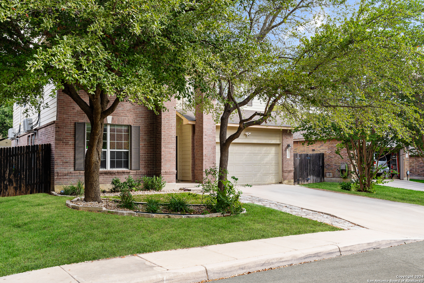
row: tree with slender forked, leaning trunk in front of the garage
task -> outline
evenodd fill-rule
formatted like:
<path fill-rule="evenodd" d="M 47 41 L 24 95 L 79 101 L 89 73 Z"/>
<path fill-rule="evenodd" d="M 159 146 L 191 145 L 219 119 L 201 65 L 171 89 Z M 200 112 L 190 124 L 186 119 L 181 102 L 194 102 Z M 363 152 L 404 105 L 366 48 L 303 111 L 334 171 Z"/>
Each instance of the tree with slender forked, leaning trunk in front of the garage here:
<path fill-rule="evenodd" d="M 237 11 L 247 21 L 233 21 L 232 33 L 213 46 L 220 62 L 214 64 L 213 75 L 204 77 L 203 89 L 199 88 L 204 93 L 195 100 L 195 104 L 209 105 L 217 101 L 221 191 L 227 178 L 229 146 L 246 128 L 278 115 L 302 117 L 319 106 L 343 109 L 350 100 L 343 89 L 349 78 L 364 71 L 372 74 L 393 58 L 402 68 L 389 64 L 391 68 L 407 69 L 407 58 L 418 45 L 408 36 L 415 40 L 421 31 L 418 2 L 362 1 L 357 10 L 346 12 L 340 11 L 346 7 L 342 1 L 240 3 Z M 340 16 L 327 14 L 327 8 L 338 9 Z M 406 74 L 392 78 L 395 87 L 407 81 Z M 241 107 L 253 98 L 262 101 L 265 110 L 244 117 Z M 373 104 L 370 100 L 359 107 Z M 234 134 L 227 135 L 232 115 L 240 123 Z"/>

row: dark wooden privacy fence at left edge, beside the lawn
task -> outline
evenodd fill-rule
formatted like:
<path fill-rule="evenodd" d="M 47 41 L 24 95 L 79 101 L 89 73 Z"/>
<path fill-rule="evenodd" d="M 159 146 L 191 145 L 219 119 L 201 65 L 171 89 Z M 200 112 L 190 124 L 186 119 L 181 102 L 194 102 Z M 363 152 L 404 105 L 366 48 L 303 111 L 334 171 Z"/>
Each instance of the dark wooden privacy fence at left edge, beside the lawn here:
<path fill-rule="evenodd" d="M 51 145 L 0 148 L 0 196 L 50 192 Z"/>

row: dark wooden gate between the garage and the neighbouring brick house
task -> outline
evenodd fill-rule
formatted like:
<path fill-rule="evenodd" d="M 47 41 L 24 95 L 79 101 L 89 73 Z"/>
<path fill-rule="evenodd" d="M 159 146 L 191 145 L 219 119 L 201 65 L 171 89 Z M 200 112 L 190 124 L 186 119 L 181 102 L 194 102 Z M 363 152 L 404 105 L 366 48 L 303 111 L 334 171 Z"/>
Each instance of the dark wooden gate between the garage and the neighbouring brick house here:
<path fill-rule="evenodd" d="M 294 183 L 324 182 L 324 153 L 294 154 Z"/>

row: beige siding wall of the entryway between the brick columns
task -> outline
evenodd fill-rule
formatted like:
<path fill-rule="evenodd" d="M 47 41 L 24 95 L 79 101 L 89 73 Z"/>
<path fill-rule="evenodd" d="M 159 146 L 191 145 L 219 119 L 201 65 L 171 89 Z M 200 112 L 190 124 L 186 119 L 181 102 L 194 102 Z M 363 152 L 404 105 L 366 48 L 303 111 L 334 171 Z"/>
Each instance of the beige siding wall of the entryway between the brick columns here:
<path fill-rule="evenodd" d="M 191 124 L 183 125 L 181 118 L 176 118 L 176 135 L 178 137 L 178 179 L 191 180 Z"/>

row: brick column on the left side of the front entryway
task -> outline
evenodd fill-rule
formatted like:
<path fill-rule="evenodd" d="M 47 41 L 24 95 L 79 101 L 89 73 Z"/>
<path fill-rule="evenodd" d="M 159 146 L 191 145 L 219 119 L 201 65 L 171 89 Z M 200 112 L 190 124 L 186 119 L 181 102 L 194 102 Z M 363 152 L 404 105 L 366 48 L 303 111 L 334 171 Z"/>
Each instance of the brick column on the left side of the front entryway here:
<path fill-rule="evenodd" d="M 156 115 L 155 159 L 156 176 L 162 175 L 167 183 L 165 190 L 175 189 L 176 171 L 176 101 L 174 98 L 165 103 L 167 110 Z"/>

